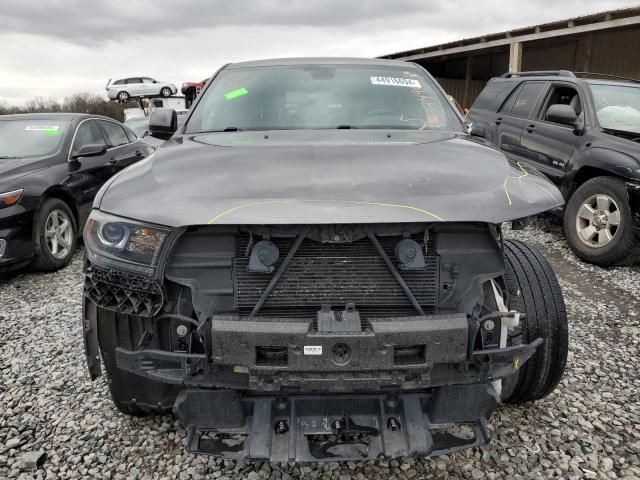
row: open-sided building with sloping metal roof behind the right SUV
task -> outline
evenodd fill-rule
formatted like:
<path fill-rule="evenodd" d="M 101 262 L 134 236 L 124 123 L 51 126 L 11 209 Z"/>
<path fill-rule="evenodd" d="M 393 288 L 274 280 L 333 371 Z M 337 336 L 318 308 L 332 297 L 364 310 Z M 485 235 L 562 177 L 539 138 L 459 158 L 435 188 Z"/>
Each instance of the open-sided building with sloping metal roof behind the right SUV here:
<path fill-rule="evenodd" d="M 505 72 L 573 70 L 640 78 L 640 7 L 384 55 L 423 65 L 463 107 Z"/>

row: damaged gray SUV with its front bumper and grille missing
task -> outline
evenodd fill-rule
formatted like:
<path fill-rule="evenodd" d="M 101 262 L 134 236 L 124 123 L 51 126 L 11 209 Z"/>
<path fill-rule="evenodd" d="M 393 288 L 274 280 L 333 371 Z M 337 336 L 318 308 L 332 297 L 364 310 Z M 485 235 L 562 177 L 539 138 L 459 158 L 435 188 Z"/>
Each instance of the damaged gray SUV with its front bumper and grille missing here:
<path fill-rule="evenodd" d="M 89 370 L 121 411 L 173 410 L 226 458 L 439 455 L 558 385 L 562 293 L 502 225 L 562 196 L 422 67 L 227 65 L 150 131 L 84 232 Z"/>

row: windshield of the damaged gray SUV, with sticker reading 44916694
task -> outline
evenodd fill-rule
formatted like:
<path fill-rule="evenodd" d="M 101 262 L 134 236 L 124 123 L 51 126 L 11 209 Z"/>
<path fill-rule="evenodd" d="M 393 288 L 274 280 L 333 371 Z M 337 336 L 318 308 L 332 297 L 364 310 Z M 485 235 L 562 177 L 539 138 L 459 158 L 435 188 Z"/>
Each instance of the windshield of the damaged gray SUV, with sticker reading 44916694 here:
<path fill-rule="evenodd" d="M 411 66 L 296 65 L 223 70 L 186 132 L 336 128 L 462 131 L 462 122 Z"/>

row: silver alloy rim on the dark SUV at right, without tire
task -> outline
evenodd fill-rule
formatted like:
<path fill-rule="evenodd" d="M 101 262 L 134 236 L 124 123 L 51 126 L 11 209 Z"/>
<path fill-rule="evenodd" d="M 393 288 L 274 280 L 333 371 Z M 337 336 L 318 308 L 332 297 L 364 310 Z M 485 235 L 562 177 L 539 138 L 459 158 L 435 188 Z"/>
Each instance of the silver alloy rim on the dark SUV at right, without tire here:
<path fill-rule="evenodd" d="M 609 195 L 592 195 L 576 214 L 578 238 L 592 248 L 606 247 L 620 226 L 620 208 Z"/>

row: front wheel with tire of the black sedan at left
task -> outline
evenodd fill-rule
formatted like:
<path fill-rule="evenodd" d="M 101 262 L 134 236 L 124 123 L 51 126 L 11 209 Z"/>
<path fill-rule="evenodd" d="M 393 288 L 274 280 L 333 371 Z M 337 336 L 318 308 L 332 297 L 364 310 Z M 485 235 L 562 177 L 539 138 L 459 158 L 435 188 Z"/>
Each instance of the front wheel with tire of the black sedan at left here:
<path fill-rule="evenodd" d="M 33 267 L 52 272 L 71 261 L 77 243 L 76 220 L 64 201 L 46 199 L 36 213 L 33 229 Z"/>

